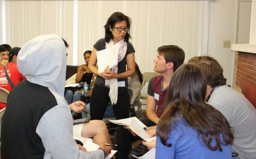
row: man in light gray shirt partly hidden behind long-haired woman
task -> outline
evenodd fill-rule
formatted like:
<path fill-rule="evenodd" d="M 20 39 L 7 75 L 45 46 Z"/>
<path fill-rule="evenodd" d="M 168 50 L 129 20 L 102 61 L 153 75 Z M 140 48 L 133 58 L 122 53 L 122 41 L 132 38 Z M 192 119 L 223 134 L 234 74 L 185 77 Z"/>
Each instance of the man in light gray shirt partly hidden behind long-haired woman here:
<path fill-rule="evenodd" d="M 207 78 L 206 102 L 219 110 L 233 128 L 232 152 L 240 158 L 256 157 L 256 110 L 243 96 L 226 85 L 223 69 L 208 56 L 194 57 L 189 64 L 198 66 Z"/>

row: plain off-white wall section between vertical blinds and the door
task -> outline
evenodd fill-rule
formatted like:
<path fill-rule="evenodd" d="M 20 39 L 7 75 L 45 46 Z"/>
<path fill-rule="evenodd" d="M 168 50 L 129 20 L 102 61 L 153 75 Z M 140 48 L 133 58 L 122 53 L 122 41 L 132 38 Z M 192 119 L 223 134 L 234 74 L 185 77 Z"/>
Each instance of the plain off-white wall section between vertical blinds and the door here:
<path fill-rule="evenodd" d="M 232 84 L 234 56 L 229 47 L 223 47 L 223 41 L 234 43 L 236 27 L 236 2 L 234 0 L 210 1 L 208 55 L 219 61 L 224 70 L 227 84 Z"/>

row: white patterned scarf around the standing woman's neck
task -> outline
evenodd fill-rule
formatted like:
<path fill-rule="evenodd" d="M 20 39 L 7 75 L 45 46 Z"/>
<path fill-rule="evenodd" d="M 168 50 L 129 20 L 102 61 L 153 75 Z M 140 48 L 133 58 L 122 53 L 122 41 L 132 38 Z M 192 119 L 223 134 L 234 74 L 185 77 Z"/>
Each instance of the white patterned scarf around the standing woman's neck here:
<path fill-rule="evenodd" d="M 127 50 L 127 43 L 124 41 L 124 39 L 120 40 L 118 43 L 119 43 L 119 50 L 118 50 L 117 60 L 118 60 L 118 62 L 120 62 L 125 57 L 126 50 Z M 115 45 L 114 41 L 111 39 L 109 43 L 106 43 L 106 48 L 110 48 L 114 45 Z M 118 65 L 116 65 L 112 68 L 112 71 L 114 71 L 115 73 L 118 73 L 118 67 L 117 66 Z M 110 87 L 109 97 L 110 97 L 111 103 L 116 104 L 117 103 L 117 95 L 118 95 L 117 78 L 113 78 L 111 80 L 105 80 L 105 86 Z"/>

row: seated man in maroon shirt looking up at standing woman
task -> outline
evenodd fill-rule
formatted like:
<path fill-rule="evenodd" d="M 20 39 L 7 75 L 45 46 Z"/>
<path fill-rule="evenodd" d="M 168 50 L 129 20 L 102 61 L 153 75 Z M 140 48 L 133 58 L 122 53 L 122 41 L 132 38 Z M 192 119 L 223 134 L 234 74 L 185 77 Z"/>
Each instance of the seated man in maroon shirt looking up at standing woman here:
<path fill-rule="evenodd" d="M 165 45 L 158 48 L 158 54 L 154 60 L 154 71 L 161 73 L 155 76 L 148 84 L 147 100 L 146 100 L 146 117 L 141 121 L 146 125 L 147 130 L 155 129 L 164 111 L 164 102 L 168 94 L 168 86 L 174 71 L 183 64 L 185 59 L 184 51 L 175 45 Z M 157 107 L 158 105 L 158 107 Z M 126 129 L 125 129 L 126 128 Z M 140 139 L 135 138 L 129 132 L 128 127 L 117 127 L 116 144 L 118 145 L 116 158 L 127 158 L 132 149 L 132 142 Z M 156 145 L 156 141 L 144 143 L 146 146 Z M 136 155 L 136 154 L 135 154 Z M 129 158 L 131 155 L 129 155 Z"/>

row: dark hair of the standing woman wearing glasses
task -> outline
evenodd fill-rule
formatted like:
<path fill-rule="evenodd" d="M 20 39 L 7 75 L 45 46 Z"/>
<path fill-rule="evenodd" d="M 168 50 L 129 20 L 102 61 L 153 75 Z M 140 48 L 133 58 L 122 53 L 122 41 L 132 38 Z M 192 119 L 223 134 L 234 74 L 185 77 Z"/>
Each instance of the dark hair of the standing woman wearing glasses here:
<path fill-rule="evenodd" d="M 131 18 L 126 16 L 126 15 L 124 15 L 121 12 L 113 13 L 109 17 L 109 19 L 106 21 L 106 24 L 104 25 L 104 28 L 105 28 L 105 40 L 106 40 L 106 42 L 110 42 L 110 40 L 113 38 L 113 35 L 112 35 L 111 31 L 110 31 L 110 27 L 111 27 L 111 29 L 113 29 L 117 22 L 121 22 L 123 20 L 126 21 L 127 28 L 129 28 L 129 30 L 127 30 L 127 33 L 125 34 L 124 41 L 129 42 L 129 38 L 131 38 L 131 36 L 130 36 Z"/>

